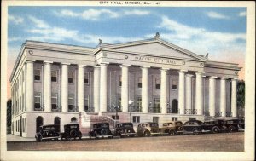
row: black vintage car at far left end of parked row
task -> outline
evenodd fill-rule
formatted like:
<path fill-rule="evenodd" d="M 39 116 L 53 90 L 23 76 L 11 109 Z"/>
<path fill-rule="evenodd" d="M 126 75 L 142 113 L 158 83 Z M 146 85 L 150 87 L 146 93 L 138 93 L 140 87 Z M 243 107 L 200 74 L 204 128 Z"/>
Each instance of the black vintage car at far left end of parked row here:
<path fill-rule="evenodd" d="M 58 129 L 59 125 L 46 124 L 39 127 L 39 132 L 35 135 L 37 141 L 43 140 L 58 140 L 60 133 Z"/>

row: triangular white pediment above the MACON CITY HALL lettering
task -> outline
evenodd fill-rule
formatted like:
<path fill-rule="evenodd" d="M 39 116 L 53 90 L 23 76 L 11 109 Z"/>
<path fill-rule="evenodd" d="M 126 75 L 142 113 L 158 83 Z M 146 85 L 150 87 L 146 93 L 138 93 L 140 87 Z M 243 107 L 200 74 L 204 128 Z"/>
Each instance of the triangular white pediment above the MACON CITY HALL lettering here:
<path fill-rule="evenodd" d="M 175 49 L 169 45 L 153 42 L 153 43 L 142 43 L 142 44 L 130 44 L 127 46 L 119 46 L 117 48 L 111 48 L 112 50 L 122 51 L 127 53 L 134 54 L 146 54 L 146 55 L 156 55 L 156 56 L 164 56 L 164 57 L 172 57 L 172 58 L 181 58 L 181 59 L 189 59 L 189 60 L 201 60 L 201 56 L 199 55 L 191 55 L 190 53 L 184 52 L 182 49 Z"/>

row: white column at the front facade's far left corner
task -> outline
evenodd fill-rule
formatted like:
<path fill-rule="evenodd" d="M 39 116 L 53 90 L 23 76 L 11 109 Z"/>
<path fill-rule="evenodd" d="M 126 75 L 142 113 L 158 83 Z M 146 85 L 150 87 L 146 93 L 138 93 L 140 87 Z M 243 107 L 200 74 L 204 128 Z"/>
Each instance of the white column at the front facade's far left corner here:
<path fill-rule="evenodd" d="M 34 110 L 34 61 L 26 60 L 26 110 Z"/>

